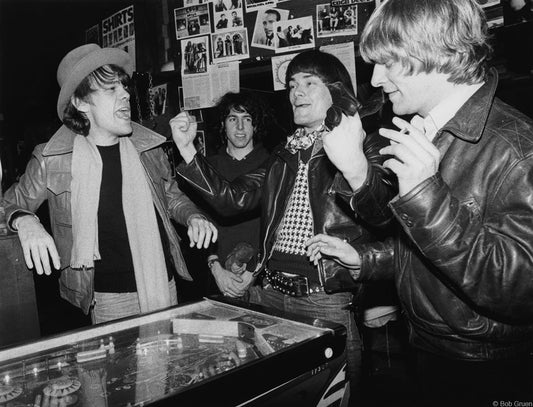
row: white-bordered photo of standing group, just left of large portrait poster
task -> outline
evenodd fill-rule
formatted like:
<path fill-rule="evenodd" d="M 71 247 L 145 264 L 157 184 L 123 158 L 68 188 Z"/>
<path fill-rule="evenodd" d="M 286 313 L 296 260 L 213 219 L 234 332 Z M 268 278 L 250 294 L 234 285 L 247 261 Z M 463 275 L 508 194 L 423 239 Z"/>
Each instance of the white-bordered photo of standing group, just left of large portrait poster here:
<path fill-rule="evenodd" d="M 211 34 L 211 44 L 214 63 L 238 61 L 250 57 L 246 28 Z"/>

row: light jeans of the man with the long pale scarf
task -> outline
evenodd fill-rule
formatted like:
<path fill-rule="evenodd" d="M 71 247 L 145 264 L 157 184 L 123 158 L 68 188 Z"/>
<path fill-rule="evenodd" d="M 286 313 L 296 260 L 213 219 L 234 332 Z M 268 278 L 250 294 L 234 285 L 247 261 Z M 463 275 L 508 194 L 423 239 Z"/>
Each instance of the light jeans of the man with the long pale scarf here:
<path fill-rule="evenodd" d="M 170 305 L 178 303 L 176 282 L 174 279 L 168 282 L 170 291 Z M 141 313 L 139 297 L 134 293 L 94 293 L 94 305 L 91 309 L 93 324 L 113 321 L 119 318 L 131 317 Z"/>

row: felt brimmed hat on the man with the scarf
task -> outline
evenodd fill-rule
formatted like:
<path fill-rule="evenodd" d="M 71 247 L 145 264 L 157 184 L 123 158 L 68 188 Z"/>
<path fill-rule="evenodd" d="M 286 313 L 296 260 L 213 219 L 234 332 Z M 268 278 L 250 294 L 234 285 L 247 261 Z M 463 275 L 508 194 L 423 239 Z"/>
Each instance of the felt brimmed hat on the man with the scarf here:
<path fill-rule="evenodd" d="M 118 48 L 85 44 L 65 55 L 57 68 L 57 83 L 61 88 L 57 99 L 57 114 L 61 120 L 70 97 L 81 81 L 95 69 L 108 64 L 120 66 L 128 75 L 133 72 L 130 56 Z"/>

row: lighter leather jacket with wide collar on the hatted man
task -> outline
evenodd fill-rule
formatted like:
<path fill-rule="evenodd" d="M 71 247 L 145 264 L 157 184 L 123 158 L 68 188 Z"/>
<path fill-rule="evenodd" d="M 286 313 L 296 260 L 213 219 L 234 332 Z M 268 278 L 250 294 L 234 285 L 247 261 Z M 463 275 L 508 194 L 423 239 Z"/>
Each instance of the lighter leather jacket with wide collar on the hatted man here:
<path fill-rule="evenodd" d="M 170 218 L 181 224 L 198 214 L 196 206 L 183 194 L 172 178 L 168 160 L 160 146 L 166 138 L 132 123 L 131 141 L 139 152 L 151 183 L 156 210 L 163 222 L 170 244 L 172 260 L 180 277 L 192 280 L 181 254 L 180 239 Z M 93 299 L 92 272 L 69 267 L 72 249 L 70 183 L 72 149 L 75 134 L 62 126 L 46 144 L 35 147 L 26 172 L 5 193 L 8 225 L 17 212 L 34 213 L 48 200 L 54 241 L 61 258 L 60 294 L 87 313 Z"/>

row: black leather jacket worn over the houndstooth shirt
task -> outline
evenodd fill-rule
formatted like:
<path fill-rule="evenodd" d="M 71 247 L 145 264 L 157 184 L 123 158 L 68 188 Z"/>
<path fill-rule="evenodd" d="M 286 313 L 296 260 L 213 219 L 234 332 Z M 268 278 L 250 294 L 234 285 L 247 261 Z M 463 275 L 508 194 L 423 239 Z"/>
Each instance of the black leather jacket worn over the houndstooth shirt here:
<path fill-rule="evenodd" d="M 356 194 L 352 193 L 324 149 L 315 146 L 315 152 L 309 161 L 308 179 L 315 233 L 327 233 L 354 243 L 376 239 L 370 230 L 372 227 L 379 230 L 392 219 L 387 203 L 395 194 L 395 188 L 391 187 L 390 180 L 384 176 L 384 170 L 380 166 L 382 159 L 378 151 L 387 143 L 388 141 L 377 133 L 366 137 L 364 150 L 370 165 L 367 180 Z M 231 183 L 218 176 L 200 154 L 196 154 L 188 165 L 181 163 L 178 166 L 178 174 L 224 216 L 261 206 L 261 247 L 256 270 L 258 274 L 272 254 L 278 226 L 294 187 L 297 169 L 298 155 L 291 154 L 284 146 L 279 146 L 263 167 Z M 351 199 L 353 210 L 338 199 L 337 193 Z M 328 267 L 327 262 L 325 263 L 324 266 Z"/>

